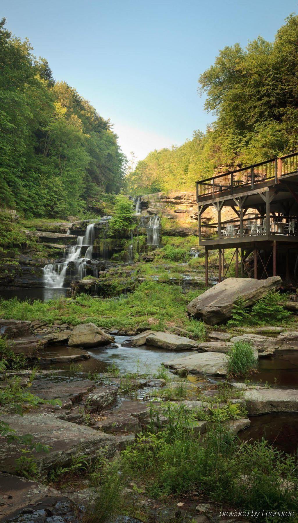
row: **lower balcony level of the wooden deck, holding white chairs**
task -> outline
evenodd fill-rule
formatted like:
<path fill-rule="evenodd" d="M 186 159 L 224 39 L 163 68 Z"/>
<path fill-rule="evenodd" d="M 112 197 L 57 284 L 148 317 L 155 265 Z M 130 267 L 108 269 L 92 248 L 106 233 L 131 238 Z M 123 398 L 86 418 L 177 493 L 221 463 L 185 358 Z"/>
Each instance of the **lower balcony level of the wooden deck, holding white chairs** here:
<path fill-rule="evenodd" d="M 215 241 L 218 243 L 224 241 L 225 243 L 236 243 L 259 240 L 279 240 L 285 241 L 297 240 L 298 236 L 298 218 L 297 217 L 277 217 L 270 215 L 269 220 L 266 216 L 258 216 L 254 218 L 244 218 L 243 220 L 235 219 L 227 222 L 212 223 L 208 225 L 201 225 L 200 243 L 208 244 Z"/>

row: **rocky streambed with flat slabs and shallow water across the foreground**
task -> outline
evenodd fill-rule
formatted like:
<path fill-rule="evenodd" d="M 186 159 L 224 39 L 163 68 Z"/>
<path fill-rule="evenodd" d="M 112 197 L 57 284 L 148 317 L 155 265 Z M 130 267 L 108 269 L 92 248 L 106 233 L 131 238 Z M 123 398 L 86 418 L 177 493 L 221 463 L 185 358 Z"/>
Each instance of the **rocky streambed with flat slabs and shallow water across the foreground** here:
<path fill-rule="evenodd" d="M 26 353 L 33 364 L 39 362 L 32 384 L 29 366 L 3 376 L 2 386 L 17 377 L 23 388 L 30 384 L 30 392 L 41 399 L 61 402 L 28 408 L 23 416 L 9 411 L 1 416 L 17 436 L 32 434 L 34 441 L 50 447 L 46 454 L 35 453 L 40 480 L 32 482 L 15 475 L 23 447 L 16 441 L 1 441 L 2 521 L 80 521 L 92 487 L 86 479 L 63 490 L 60 485 L 57 490 L 57 485 L 47 480 L 51 470 L 67 467 L 73 456 L 94 461 L 104 454 L 105 459 L 115 459 L 152 423 L 152 405 L 159 410 L 159 424 L 167 424 L 163 405 L 168 400 L 191 413 L 194 431 L 201 437 L 210 430 L 217 408 L 237 404 L 240 412 L 247 414 L 225 423 L 240 440 L 265 436 L 280 450 L 296 450 L 296 331 L 269 327 L 252 334 L 243 329 L 231 333 L 209 329 L 206 342 L 198 343 L 186 332 L 178 335 L 147 329 L 128 334 L 93 324 L 50 327 L 39 321 L 2 320 L 0 329 L 10 350 Z M 247 336 L 259 357 L 258 373 L 250 383 L 231 382 L 224 397 L 225 353 L 235 338 Z M 127 495 L 128 505 L 133 506 L 134 489 L 128 488 Z M 171 521 L 178 513 L 180 519 L 194 518 L 198 523 L 210 518 L 219 521 L 213 504 L 206 508 L 194 502 L 186 510 L 176 503 L 152 500 L 144 493 L 138 494 L 138 502 L 147 517 L 157 521 Z"/>

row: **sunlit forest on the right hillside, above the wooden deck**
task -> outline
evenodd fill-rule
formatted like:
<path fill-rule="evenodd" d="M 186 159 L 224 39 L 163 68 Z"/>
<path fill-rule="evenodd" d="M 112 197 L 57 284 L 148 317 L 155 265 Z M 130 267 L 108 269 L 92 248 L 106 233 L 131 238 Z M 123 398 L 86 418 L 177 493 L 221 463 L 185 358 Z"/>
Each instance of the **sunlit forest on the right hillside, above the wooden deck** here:
<path fill-rule="evenodd" d="M 180 147 L 148 154 L 128 176 L 129 191 L 194 189 L 197 179 L 298 149 L 298 17 L 273 43 L 258 37 L 219 52 L 198 79 L 215 121 Z"/>

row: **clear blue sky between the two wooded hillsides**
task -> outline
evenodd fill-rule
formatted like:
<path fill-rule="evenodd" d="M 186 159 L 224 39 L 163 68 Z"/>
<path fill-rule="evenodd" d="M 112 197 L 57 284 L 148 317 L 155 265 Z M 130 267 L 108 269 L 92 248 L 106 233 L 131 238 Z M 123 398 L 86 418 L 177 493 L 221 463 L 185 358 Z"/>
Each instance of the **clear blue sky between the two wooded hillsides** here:
<path fill-rule="evenodd" d="M 198 76 L 219 49 L 272 41 L 297 0 L 2 0 L 0 17 L 37 56 L 110 118 L 140 160 L 181 144 L 213 116 Z"/>

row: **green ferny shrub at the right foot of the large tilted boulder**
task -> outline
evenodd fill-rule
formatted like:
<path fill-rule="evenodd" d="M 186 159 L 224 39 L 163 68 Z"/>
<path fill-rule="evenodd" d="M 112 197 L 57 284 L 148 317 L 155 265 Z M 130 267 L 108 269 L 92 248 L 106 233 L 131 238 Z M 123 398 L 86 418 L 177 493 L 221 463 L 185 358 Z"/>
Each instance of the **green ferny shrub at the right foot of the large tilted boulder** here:
<path fill-rule="evenodd" d="M 233 306 L 231 319 L 228 327 L 249 325 L 280 325 L 289 323 L 293 313 L 286 311 L 280 305 L 281 296 L 279 292 L 271 291 L 256 301 L 251 307 L 247 307 L 243 298 L 237 298 Z"/>

